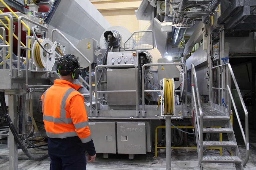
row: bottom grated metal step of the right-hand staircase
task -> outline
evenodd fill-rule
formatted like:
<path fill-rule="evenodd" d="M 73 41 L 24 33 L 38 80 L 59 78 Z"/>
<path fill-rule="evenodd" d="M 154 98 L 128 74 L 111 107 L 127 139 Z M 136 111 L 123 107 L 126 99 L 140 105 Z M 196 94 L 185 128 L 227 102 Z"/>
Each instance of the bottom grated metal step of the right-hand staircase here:
<path fill-rule="evenodd" d="M 203 156 L 203 163 L 241 163 L 238 156 Z"/>

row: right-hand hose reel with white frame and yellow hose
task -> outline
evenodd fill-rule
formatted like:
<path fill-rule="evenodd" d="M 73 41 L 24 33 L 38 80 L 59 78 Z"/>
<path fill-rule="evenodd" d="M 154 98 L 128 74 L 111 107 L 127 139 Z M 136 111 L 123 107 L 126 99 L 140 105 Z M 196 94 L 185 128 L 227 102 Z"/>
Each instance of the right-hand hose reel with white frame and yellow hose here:
<path fill-rule="evenodd" d="M 162 115 L 174 114 L 175 111 L 175 95 L 174 95 L 174 80 L 164 78 L 161 80 L 161 105 L 162 105 Z"/>

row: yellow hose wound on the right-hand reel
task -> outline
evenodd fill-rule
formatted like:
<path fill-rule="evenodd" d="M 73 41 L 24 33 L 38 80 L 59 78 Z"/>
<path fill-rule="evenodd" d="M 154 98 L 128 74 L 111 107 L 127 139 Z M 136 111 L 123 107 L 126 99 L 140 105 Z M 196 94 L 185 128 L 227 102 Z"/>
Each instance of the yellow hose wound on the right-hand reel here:
<path fill-rule="evenodd" d="M 164 101 L 165 114 L 173 113 L 173 80 L 164 78 Z"/>

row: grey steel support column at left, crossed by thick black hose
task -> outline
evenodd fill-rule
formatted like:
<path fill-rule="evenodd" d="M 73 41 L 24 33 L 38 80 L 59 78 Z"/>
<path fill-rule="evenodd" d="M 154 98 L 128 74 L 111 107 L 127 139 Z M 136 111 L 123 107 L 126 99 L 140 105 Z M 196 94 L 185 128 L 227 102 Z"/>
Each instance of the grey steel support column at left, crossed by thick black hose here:
<path fill-rule="evenodd" d="M 17 127 L 17 96 L 8 95 L 8 105 L 9 105 L 9 115 L 12 119 L 14 127 Z M 17 170 L 18 169 L 18 145 L 14 140 L 11 129 L 9 128 L 9 169 Z"/>

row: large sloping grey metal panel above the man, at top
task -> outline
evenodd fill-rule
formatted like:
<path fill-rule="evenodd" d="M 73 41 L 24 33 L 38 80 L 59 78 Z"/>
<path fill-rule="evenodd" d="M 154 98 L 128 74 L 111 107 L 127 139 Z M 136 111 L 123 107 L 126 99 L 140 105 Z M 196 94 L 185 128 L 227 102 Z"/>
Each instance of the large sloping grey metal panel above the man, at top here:
<path fill-rule="evenodd" d="M 89 0 L 61 0 L 55 8 L 47 20 L 49 33 L 58 29 L 74 46 L 88 37 L 99 42 L 102 33 L 111 27 Z M 53 40 L 65 46 L 66 53 L 75 51 L 60 35 L 54 34 Z"/>

